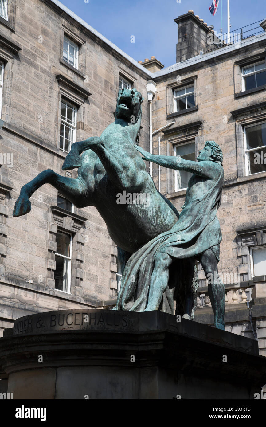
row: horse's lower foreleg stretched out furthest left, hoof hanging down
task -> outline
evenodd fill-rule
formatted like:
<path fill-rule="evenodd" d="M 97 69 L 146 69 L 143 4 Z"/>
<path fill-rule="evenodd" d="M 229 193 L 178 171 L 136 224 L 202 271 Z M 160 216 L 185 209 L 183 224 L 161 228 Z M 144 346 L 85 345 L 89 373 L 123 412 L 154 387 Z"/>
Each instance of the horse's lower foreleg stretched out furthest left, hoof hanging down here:
<path fill-rule="evenodd" d="M 68 178 L 67 176 L 58 175 L 51 169 L 47 169 L 39 173 L 28 184 L 23 185 L 20 195 L 15 202 L 13 216 L 25 215 L 31 210 L 29 197 L 44 184 L 53 185 L 53 187 L 59 190 L 63 196 L 78 208 L 85 206 L 86 190 L 82 178 Z"/>

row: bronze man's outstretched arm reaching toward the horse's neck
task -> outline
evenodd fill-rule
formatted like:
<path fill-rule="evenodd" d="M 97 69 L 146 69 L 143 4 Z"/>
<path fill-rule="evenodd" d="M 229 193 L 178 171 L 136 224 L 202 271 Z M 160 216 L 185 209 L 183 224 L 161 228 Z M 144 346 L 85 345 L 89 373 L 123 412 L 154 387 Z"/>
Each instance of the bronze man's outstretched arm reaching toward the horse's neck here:
<path fill-rule="evenodd" d="M 169 169 L 185 170 L 186 172 L 195 173 L 196 175 L 203 176 L 205 178 L 213 178 L 213 168 L 206 167 L 205 161 L 196 162 L 185 160 L 179 156 L 157 156 L 155 154 L 148 153 L 137 145 L 135 145 L 135 147 L 137 151 L 143 155 L 144 160 L 152 161 L 153 163 Z"/>

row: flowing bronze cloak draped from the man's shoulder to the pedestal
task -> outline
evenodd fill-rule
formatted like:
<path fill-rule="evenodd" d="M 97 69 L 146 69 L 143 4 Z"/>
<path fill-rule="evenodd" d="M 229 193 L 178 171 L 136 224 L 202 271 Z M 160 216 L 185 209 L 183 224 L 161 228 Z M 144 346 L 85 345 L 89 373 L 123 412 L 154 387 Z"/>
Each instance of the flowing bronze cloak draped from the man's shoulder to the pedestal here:
<path fill-rule="evenodd" d="M 222 234 L 216 212 L 221 204 L 224 182 L 222 166 L 217 175 L 212 178 L 213 185 L 209 190 L 199 194 L 199 197 L 190 203 L 185 201 L 178 221 L 169 231 L 150 240 L 129 258 L 123 272 L 116 310 L 145 310 L 155 256 L 167 253 L 172 257 L 172 264 L 168 286 L 162 295 L 159 310 L 183 315 L 185 300 L 190 295 L 193 319 L 198 287 L 195 259 L 197 255 L 211 248 L 219 261 Z"/>

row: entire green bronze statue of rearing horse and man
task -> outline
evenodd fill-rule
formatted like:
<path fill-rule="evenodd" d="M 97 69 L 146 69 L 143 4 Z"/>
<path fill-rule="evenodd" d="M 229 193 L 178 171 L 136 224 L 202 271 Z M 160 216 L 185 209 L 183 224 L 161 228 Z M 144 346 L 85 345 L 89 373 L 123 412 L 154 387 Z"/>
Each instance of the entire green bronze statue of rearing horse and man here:
<path fill-rule="evenodd" d="M 100 137 L 90 137 L 71 146 L 62 169 L 77 167 L 78 177 L 68 178 L 53 170 L 41 172 L 21 188 L 13 216 L 28 213 L 30 196 L 47 183 L 77 208 L 95 206 L 118 246 L 122 269 L 126 266 L 117 310 L 162 310 L 191 319 L 198 286 L 195 259 L 201 260 L 203 266 L 206 264 L 205 272 L 215 269 L 219 259 L 221 234 L 216 210 L 223 170 L 221 164 L 213 161 L 210 145 L 203 153 L 209 157 L 204 157 L 200 164 L 190 162 L 189 167 L 184 161 L 178 163 L 177 158 L 149 157 L 149 153 L 142 151 L 147 160 L 194 173 L 178 220 L 178 211 L 158 192 L 135 149 L 142 101 L 142 95 L 135 89 L 119 91 L 114 123 Z M 202 238 L 193 250 L 196 232 Z M 214 236 L 219 236 L 218 240 Z M 221 284 L 214 284 L 209 292 L 215 326 L 223 328 L 224 290 Z"/>

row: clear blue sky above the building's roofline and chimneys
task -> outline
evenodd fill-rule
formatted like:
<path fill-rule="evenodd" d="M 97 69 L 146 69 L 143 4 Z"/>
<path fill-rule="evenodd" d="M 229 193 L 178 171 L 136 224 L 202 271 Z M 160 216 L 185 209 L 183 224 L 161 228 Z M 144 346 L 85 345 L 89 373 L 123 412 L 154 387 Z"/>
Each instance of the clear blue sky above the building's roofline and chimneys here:
<path fill-rule="evenodd" d="M 219 33 L 222 9 L 223 32 L 227 32 L 227 0 L 219 0 L 214 17 L 209 11 L 211 2 L 212 0 L 181 0 L 181 3 L 176 0 L 88 0 L 85 3 L 85 0 L 61 0 L 61 3 L 136 61 L 144 61 L 144 58 L 155 55 L 165 67 L 176 61 L 177 24 L 174 19 L 179 15 L 192 9 L 208 25 L 213 24 Z M 265 0 L 231 0 L 231 30 L 266 18 L 265 4 Z M 259 23 L 255 26 L 257 25 Z M 134 43 L 131 43 L 132 35 L 135 37 Z"/>

